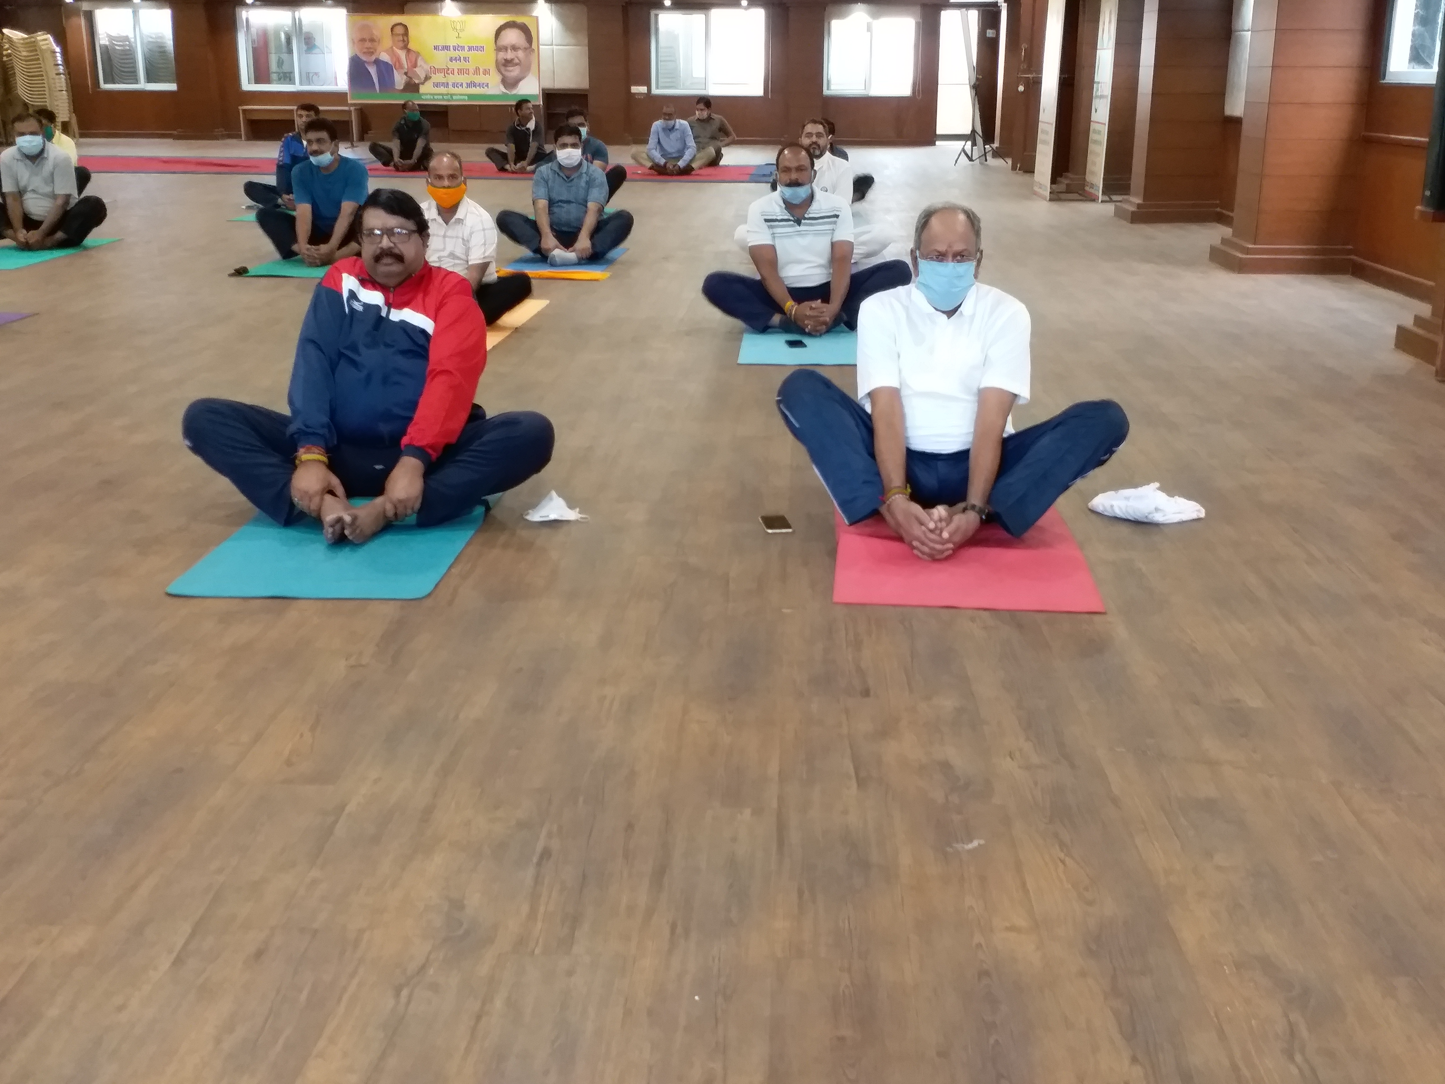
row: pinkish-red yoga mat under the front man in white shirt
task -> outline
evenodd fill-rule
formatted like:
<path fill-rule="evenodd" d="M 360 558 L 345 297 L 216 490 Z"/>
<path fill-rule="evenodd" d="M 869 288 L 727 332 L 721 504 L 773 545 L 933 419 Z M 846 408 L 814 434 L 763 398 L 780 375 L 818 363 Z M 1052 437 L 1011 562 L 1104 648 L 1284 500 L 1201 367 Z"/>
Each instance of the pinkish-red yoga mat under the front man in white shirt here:
<path fill-rule="evenodd" d="M 1104 613 L 1088 562 L 1058 509 L 1020 539 L 985 523 L 946 561 L 922 561 L 883 522 L 837 516 L 832 601 L 959 610 Z"/>

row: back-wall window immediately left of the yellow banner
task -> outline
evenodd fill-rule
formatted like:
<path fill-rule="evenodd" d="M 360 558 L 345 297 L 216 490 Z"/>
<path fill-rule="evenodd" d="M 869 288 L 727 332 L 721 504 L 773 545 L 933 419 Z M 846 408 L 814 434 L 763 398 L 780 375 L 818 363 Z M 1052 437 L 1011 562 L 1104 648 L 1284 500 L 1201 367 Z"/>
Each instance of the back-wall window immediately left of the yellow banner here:
<path fill-rule="evenodd" d="M 243 90 L 341 88 L 337 65 L 350 53 L 345 9 L 241 7 L 236 26 Z"/>

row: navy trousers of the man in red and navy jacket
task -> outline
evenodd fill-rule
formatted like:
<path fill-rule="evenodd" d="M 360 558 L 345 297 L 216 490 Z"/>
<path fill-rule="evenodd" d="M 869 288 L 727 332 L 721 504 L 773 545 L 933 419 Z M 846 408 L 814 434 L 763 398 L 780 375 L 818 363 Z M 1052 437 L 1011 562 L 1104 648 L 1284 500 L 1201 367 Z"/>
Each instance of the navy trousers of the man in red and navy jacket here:
<path fill-rule="evenodd" d="M 264 406 L 230 399 L 197 399 L 185 410 L 181 435 L 201 461 L 224 476 L 251 504 L 286 526 L 306 517 L 290 500 L 296 442 L 286 435 L 290 418 Z M 465 516 L 483 497 L 520 486 L 552 460 L 552 422 L 530 410 L 487 418 L 480 406 L 426 468 L 416 525 Z M 331 471 L 348 497 L 379 497 L 402 457 L 399 447 L 340 445 L 327 449 Z"/>

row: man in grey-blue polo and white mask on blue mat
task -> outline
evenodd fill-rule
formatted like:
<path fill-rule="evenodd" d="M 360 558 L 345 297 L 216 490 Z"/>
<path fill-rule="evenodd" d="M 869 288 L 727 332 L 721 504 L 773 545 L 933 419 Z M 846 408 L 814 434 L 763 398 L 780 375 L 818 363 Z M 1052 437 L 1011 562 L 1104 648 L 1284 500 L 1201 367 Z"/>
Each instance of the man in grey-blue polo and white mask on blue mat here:
<path fill-rule="evenodd" d="M 605 256 L 627 240 L 633 227 L 631 212 L 611 211 L 603 218 L 607 178 L 601 169 L 582 160 L 582 133 L 575 124 L 559 124 L 553 139 L 556 158 L 538 166 L 532 176 L 536 218 L 501 211 L 497 228 L 555 266 Z"/>

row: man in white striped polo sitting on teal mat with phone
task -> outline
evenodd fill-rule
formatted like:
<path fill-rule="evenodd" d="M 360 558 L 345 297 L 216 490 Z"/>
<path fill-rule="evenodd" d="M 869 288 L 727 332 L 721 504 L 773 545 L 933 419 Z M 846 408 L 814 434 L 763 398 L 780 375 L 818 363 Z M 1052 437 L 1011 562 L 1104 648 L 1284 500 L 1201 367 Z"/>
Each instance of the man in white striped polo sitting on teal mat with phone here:
<path fill-rule="evenodd" d="M 814 160 L 801 143 L 777 152 L 777 191 L 747 208 L 747 253 L 759 278 L 712 272 L 702 295 L 753 331 L 821 335 L 857 325 L 864 298 L 912 278 L 903 260 L 853 272 L 848 199 L 814 186 Z"/>

